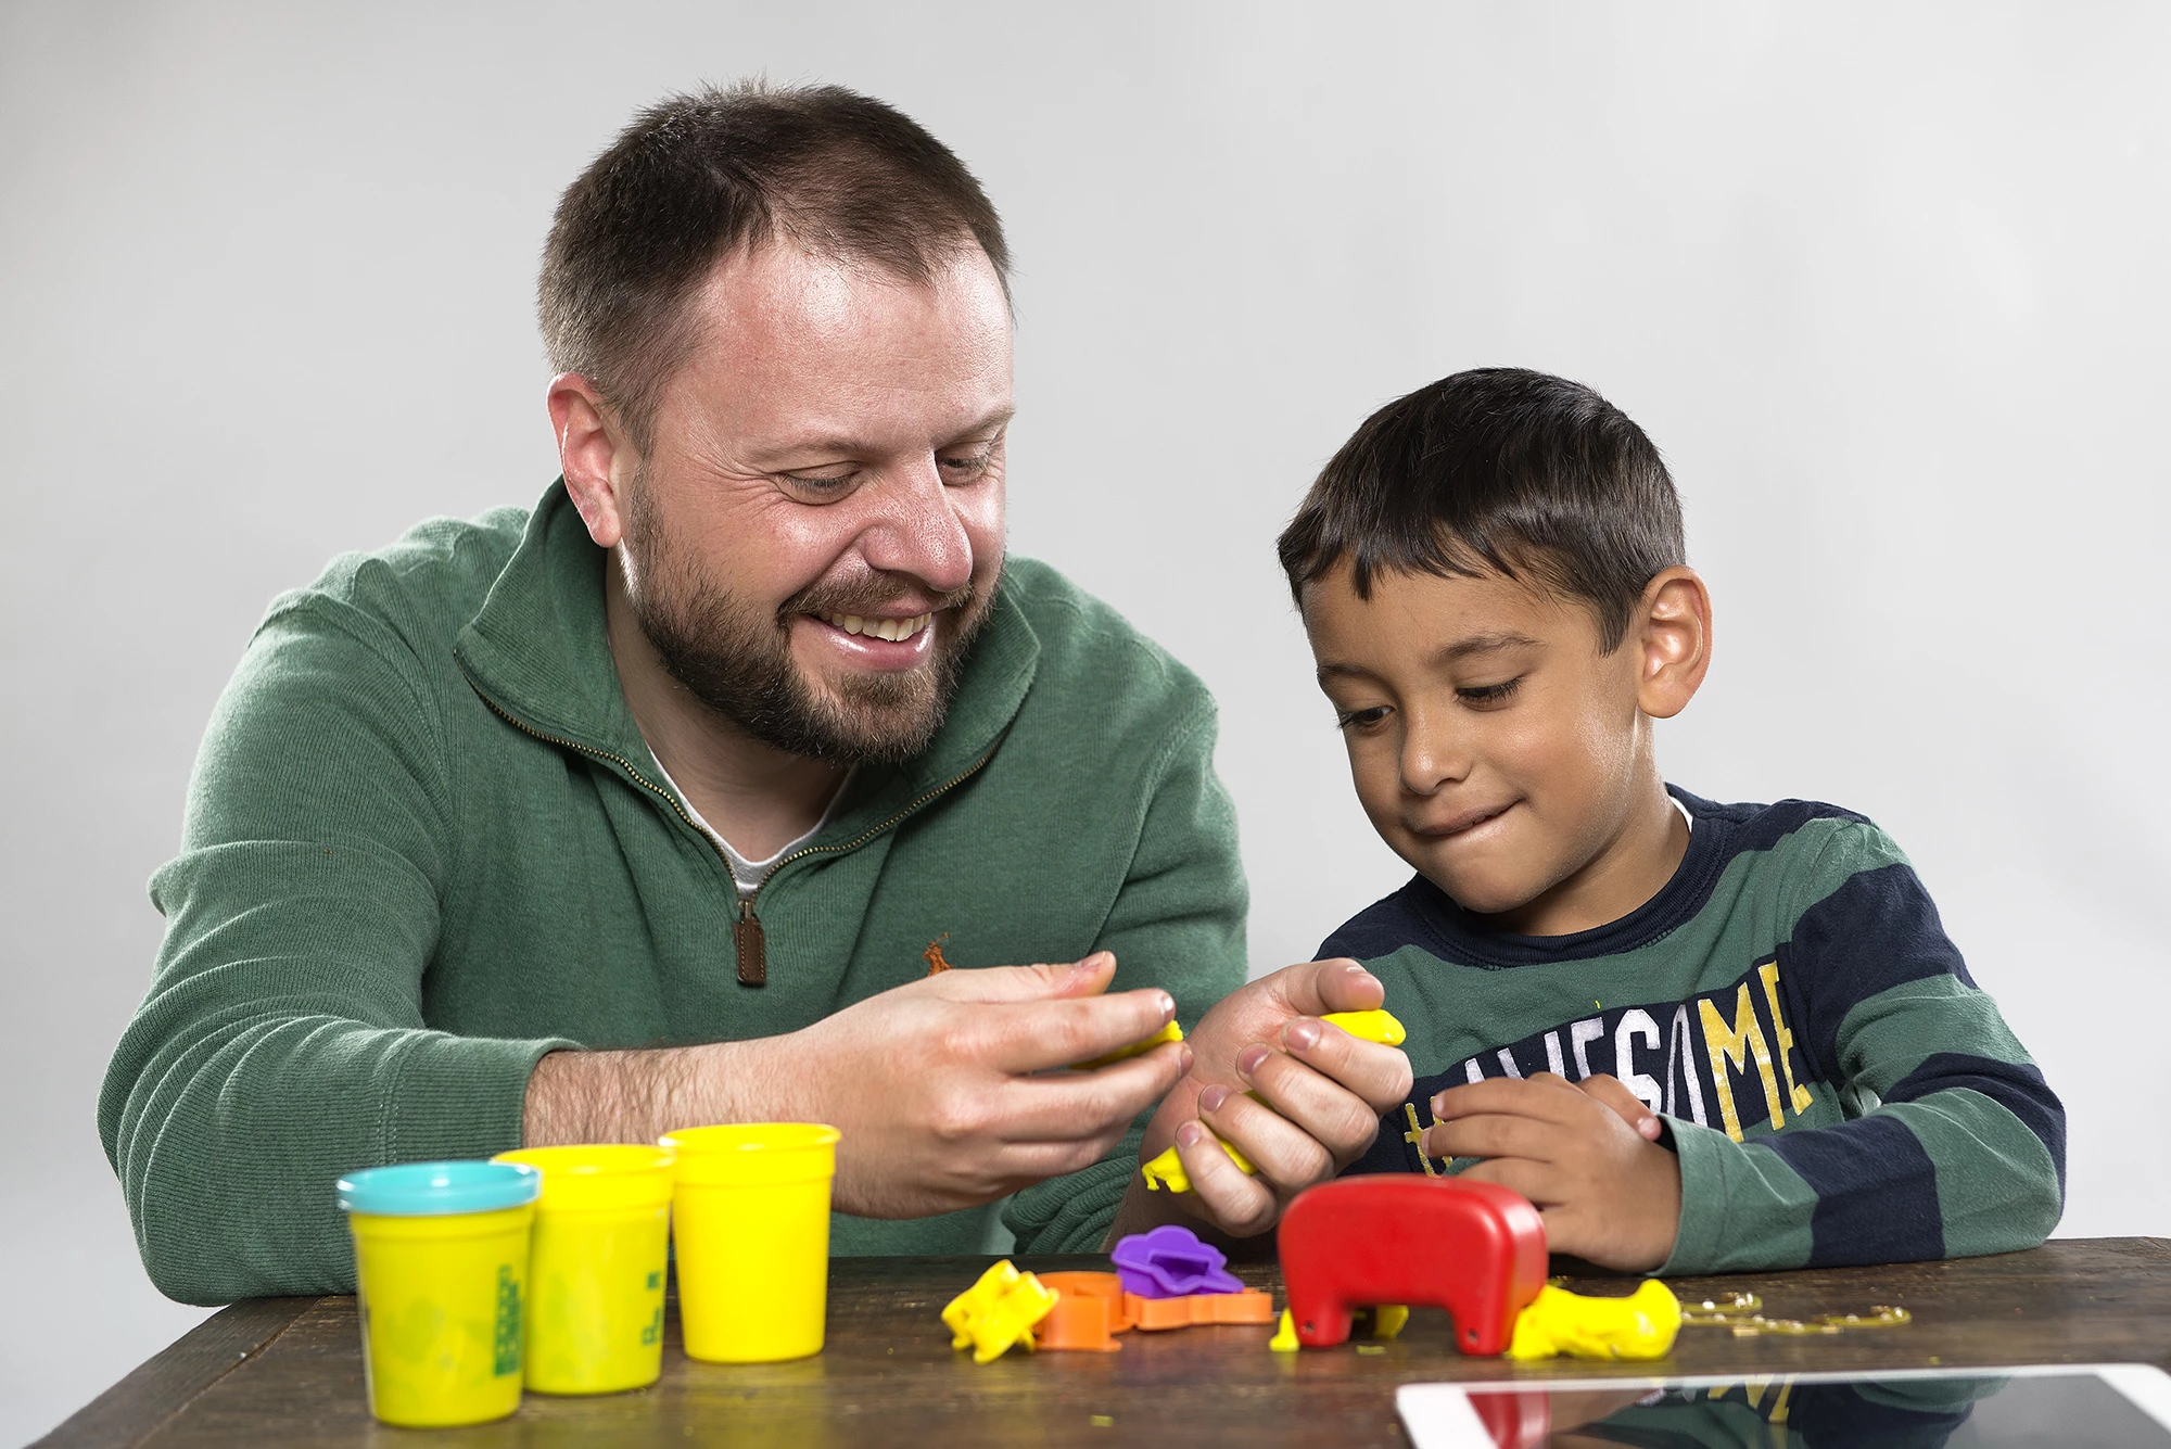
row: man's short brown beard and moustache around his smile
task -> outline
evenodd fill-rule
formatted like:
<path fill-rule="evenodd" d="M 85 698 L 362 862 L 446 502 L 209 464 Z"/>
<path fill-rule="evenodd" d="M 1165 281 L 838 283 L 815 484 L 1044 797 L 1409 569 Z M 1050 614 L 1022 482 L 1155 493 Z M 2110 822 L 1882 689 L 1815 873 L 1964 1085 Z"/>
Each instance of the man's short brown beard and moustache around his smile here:
<path fill-rule="evenodd" d="M 623 549 L 627 603 L 664 668 L 703 705 L 788 755 L 834 764 L 901 764 L 936 738 L 949 711 L 966 649 L 992 612 L 994 588 L 966 584 L 936 599 L 929 659 L 897 672 L 847 672 L 836 696 L 818 692 L 792 662 L 790 625 L 801 614 L 868 616 L 910 579 L 868 573 L 845 584 L 814 584 L 773 616 L 703 577 L 647 505 L 634 479 Z M 947 627 L 944 627 L 947 625 Z"/>

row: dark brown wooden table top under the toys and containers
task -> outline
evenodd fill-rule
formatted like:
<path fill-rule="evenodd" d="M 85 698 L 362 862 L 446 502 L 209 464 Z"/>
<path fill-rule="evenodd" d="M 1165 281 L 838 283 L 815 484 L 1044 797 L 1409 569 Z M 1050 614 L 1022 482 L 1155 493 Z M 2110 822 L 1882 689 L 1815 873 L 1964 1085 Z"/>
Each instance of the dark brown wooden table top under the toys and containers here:
<path fill-rule="evenodd" d="M 1748 1288 L 1774 1317 L 1900 1304 L 1904 1328 L 1819 1338 L 1685 1328 L 1661 1364 L 1461 1358 L 1418 1310 L 1396 1343 L 1270 1354 L 1264 1328 L 1125 1334 L 1120 1354 L 1018 1354 L 975 1367 L 938 1321 L 988 1258 L 838 1258 L 829 1347 L 790 1364 L 701 1364 L 669 1323 L 662 1382 L 601 1399 L 528 1395 L 473 1429 L 386 1429 L 363 1403 L 352 1297 L 254 1299 L 208 1319 L 41 1445 L 1402 1445 L 1394 1386 L 1418 1380 L 2151 1362 L 2171 1369 L 2171 1241 L 2073 1239 L 2026 1254 L 1876 1269 L 1674 1280 L 1683 1299 Z M 1018 1267 L 1105 1269 L 1105 1258 Z M 1272 1265 L 1240 1269 L 1279 1291 Z M 1620 1280 L 1572 1284 L 1620 1293 Z"/>

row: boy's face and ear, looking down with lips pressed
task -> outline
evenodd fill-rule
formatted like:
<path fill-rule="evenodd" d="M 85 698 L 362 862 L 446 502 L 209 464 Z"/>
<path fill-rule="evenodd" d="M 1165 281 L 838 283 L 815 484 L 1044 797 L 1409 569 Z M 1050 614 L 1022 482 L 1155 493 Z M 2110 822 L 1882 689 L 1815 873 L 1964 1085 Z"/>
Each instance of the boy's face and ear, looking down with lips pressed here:
<path fill-rule="evenodd" d="M 1685 584 L 1667 584 L 1676 573 Z M 1696 605 L 1689 649 L 1683 620 L 1659 618 L 1683 599 Z M 1463 909 L 1561 935 L 1626 915 L 1672 876 L 1687 833 L 1650 716 L 1700 683 L 1709 599 L 1680 568 L 1646 605 L 1602 653 L 1589 605 L 1498 575 L 1376 573 L 1359 599 L 1342 560 L 1305 590 L 1357 798 Z"/>

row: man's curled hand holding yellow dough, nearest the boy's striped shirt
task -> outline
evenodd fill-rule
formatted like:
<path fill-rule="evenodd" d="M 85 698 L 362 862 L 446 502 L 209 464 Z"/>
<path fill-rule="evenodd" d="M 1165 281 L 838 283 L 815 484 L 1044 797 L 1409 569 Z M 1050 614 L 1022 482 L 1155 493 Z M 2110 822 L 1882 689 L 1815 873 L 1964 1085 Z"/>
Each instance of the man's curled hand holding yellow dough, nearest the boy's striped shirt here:
<path fill-rule="evenodd" d="M 1379 978 L 1355 961 L 1307 961 L 1216 1004 L 1190 1035 L 1194 1069 L 1161 1102 L 1140 1150 L 1153 1158 L 1175 1141 L 1192 1191 L 1148 1202 L 1133 1180 L 1118 1232 L 1181 1210 L 1229 1236 L 1257 1236 L 1281 1221 L 1290 1197 L 1363 1156 L 1381 1113 L 1409 1093 L 1409 1059 L 1318 1017 L 1372 1011 L 1383 1000 Z M 1259 1174 L 1240 1171 L 1216 1137 Z"/>

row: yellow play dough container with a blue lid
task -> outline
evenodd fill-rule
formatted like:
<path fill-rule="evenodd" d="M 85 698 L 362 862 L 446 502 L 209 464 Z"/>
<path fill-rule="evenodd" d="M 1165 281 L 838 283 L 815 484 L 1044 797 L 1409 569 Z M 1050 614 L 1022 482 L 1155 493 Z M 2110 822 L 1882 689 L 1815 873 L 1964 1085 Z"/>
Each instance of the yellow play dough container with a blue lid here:
<path fill-rule="evenodd" d="M 371 1414 L 445 1427 L 519 1408 L 541 1184 L 512 1163 L 404 1163 L 339 1180 Z"/>

